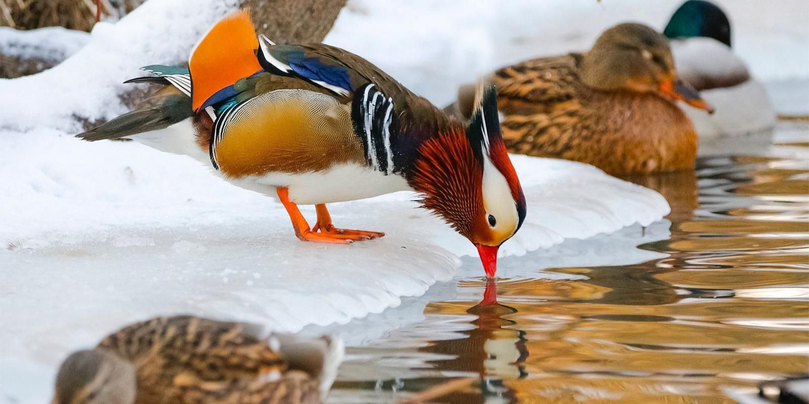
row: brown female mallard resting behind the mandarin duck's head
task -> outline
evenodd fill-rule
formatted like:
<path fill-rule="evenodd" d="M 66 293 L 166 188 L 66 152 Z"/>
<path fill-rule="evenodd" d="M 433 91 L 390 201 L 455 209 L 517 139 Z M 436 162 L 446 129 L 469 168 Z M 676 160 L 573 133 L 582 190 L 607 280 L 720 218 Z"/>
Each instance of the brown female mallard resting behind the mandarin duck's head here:
<path fill-rule="evenodd" d="M 481 81 L 497 86 L 512 153 L 586 162 L 611 175 L 692 168 L 697 134 L 676 100 L 711 111 L 677 78 L 666 37 L 637 23 L 608 29 L 587 53 L 524 61 Z M 475 94 L 461 87 L 445 112 L 471 116 Z"/>

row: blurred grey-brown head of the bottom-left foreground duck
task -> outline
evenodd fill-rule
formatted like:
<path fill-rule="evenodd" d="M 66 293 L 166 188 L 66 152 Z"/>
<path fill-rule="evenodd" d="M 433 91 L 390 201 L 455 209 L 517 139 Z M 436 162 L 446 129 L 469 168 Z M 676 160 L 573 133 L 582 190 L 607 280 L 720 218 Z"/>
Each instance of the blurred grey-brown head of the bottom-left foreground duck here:
<path fill-rule="evenodd" d="M 132 404 L 132 364 L 103 349 L 76 351 L 62 362 L 52 404 Z"/>

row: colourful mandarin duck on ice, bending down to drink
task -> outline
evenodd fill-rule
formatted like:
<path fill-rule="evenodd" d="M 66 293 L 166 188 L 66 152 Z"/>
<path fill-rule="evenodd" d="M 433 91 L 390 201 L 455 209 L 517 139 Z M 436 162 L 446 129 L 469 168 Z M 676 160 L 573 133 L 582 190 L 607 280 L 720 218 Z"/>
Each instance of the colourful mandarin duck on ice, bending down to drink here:
<path fill-rule="evenodd" d="M 416 191 L 421 206 L 477 246 L 491 277 L 498 247 L 525 218 L 491 88 L 481 90 L 465 125 L 341 48 L 256 38 L 245 11 L 205 34 L 188 69 L 144 69 L 156 75 L 129 82 L 163 88 L 136 111 L 77 136 L 132 137 L 191 155 L 230 183 L 280 200 L 301 240 L 381 237 L 337 229 L 326 204 Z M 298 204 L 316 205 L 316 225 Z"/>

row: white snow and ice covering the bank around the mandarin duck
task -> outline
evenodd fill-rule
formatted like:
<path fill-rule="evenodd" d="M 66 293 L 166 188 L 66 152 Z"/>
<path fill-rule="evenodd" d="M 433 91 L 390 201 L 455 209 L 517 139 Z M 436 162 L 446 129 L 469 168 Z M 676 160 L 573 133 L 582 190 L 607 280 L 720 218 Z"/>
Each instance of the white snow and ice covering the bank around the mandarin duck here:
<path fill-rule="evenodd" d="M 177 313 L 284 330 L 345 323 L 451 280 L 458 256 L 473 253 L 446 225 L 415 209 L 406 193 L 334 205 L 337 225 L 383 230 L 383 239 L 301 243 L 279 205 L 231 187 L 191 158 L 134 142 L 71 137 L 80 129 L 77 117 L 125 112 L 118 99 L 123 80 L 140 65 L 184 60 L 200 33 L 235 4 L 206 1 L 209 7 L 198 0 L 146 2 L 119 23 L 100 23 L 90 43 L 61 65 L 0 80 L 3 402 L 47 400 L 59 360 L 125 323 Z M 489 69 L 587 48 L 618 21 L 662 27 L 676 3 L 351 1 L 326 41 L 442 104 L 458 84 Z M 756 14 L 752 1 L 724 3 L 754 74 L 807 74 L 809 56 L 798 52 L 809 43 L 801 25 L 805 2 L 779 2 L 768 11 L 772 18 Z M 668 211 L 654 191 L 591 166 L 514 162 L 529 212 L 503 246 L 508 255 L 649 225 Z M 507 262 L 498 275 L 520 276 L 519 265 Z M 465 265 L 464 275 L 482 273 L 478 265 Z"/>

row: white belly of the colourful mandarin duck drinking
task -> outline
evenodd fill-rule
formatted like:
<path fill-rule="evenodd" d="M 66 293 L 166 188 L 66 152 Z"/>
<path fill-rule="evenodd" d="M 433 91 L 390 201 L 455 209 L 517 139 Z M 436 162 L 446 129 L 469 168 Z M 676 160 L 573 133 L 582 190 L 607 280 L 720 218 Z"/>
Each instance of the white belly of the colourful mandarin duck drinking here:
<path fill-rule="evenodd" d="M 318 172 L 269 173 L 227 180 L 276 199 L 276 187 L 288 187 L 290 200 L 295 204 L 330 204 L 412 190 L 400 175 L 384 175 L 356 164 L 341 164 Z"/>

